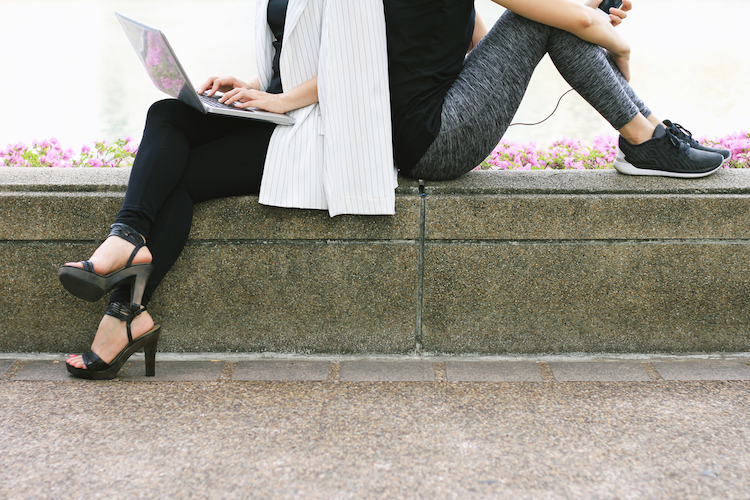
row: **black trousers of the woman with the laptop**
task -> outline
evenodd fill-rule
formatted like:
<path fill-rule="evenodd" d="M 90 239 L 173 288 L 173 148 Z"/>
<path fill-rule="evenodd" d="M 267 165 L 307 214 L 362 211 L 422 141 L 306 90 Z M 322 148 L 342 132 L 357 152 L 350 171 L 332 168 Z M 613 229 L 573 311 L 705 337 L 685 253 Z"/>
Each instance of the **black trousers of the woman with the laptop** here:
<path fill-rule="evenodd" d="M 182 252 L 194 204 L 258 193 L 274 128 L 265 122 L 204 115 L 173 99 L 151 106 L 115 221 L 144 235 L 153 255 L 143 305 Z M 110 297 L 110 302 L 128 301 L 130 286 Z"/>

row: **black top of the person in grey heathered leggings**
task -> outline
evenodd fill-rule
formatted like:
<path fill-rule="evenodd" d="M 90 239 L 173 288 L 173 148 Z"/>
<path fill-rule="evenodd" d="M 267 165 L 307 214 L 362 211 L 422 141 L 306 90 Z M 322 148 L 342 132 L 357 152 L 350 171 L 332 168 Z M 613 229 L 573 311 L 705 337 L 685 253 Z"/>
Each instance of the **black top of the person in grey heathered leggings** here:
<path fill-rule="evenodd" d="M 384 0 L 396 166 L 409 172 L 440 131 L 474 33 L 474 0 Z"/>

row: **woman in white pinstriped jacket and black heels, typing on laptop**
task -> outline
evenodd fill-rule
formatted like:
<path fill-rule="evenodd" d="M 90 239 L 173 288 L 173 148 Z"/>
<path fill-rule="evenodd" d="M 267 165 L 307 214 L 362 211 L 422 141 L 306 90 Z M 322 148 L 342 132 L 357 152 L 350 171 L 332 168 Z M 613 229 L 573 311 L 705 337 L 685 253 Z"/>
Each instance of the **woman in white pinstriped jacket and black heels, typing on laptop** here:
<path fill-rule="evenodd" d="M 160 328 L 146 306 L 187 241 L 195 203 L 259 194 L 263 204 L 332 217 L 395 211 L 382 0 L 258 0 L 256 8 L 258 76 L 212 77 L 197 91 L 288 113 L 295 124 L 204 115 L 177 100 L 151 107 L 110 236 L 89 260 L 58 272 L 86 300 L 114 289 L 91 350 L 67 360 L 76 377 L 113 378 L 141 348 L 154 375 Z M 368 71 L 353 70 L 361 67 Z"/>

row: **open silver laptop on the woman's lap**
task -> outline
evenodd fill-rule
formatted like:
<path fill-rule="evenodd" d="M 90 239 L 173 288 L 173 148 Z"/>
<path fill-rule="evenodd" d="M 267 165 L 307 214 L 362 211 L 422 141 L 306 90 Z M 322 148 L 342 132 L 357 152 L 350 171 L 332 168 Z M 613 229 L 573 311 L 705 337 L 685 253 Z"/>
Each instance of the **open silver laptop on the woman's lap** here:
<path fill-rule="evenodd" d="M 199 95 L 190 83 L 180 61 L 177 60 L 167 37 L 161 31 L 115 12 L 117 20 L 130 40 L 138 57 L 146 68 L 148 76 L 156 88 L 165 94 L 179 99 L 202 113 L 247 118 L 292 125 L 294 118 L 282 113 L 271 113 L 258 108 L 239 109 L 219 102 L 216 94 L 208 97 Z"/>

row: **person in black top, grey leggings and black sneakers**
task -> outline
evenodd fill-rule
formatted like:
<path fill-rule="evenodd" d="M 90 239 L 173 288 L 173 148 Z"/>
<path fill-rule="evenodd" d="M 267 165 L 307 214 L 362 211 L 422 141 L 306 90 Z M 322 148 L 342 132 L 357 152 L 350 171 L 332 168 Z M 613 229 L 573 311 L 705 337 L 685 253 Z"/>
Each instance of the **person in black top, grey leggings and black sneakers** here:
<path fill-rule="evenodd" d="M 621 173 L 702 177 L 729 158 L 656 118 L 628 84 L 630 47 L 614 26 L 630 0 L 609 15 L 597 9 L 601 0 L 493 1 L 508 11 L 466 56 L 474 0 L 384 0 L 395 159 L 404 175 L 453 179 L 481 163 L 545 54 L 620 132 Z"/>

